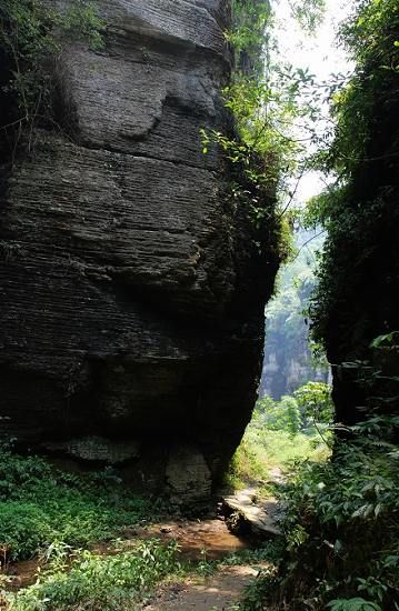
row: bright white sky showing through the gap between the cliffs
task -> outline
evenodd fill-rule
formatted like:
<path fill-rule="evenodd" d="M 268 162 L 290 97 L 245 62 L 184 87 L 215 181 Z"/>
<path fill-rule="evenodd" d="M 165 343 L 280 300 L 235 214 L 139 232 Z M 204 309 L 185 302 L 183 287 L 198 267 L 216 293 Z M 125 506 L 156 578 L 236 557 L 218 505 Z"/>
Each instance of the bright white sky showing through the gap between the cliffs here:
<path fill-rule="evenodd" d="M 345 51 L 337 47 L 336 34 L 340 21 L 351 12 L 352 0 L 327 0 L 326 18 L 315 36 L 303 34 L 290 17 L 289 0 L 279 0 L 275 6 L 277 37 L 283 58 L 298 68 L 309 68 L 318 81 L 326 81 L 331 73 L 348 72 L 352 64 Z M 322 191 L 325 184 L 316 173 L 302 178 L 298 191 L 298 204 Z"/>

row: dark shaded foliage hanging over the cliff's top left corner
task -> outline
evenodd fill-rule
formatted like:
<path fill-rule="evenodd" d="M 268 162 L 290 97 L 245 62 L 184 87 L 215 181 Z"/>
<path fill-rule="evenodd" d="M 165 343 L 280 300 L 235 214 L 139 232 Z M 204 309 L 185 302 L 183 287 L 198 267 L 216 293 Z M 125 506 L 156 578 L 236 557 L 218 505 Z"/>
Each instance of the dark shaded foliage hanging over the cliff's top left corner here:
<path fill-rule="evenodd" d="M 24 134 L 31 148 L 33 128 L 54 123 L 52 73 L 63 39 L 78 38 L 99 49 L 103 28 L 94 6 L 87 0 L 68 2 L 62 13 L 40 0 L 2 0 L 0 50 L 9 72 L 3 90 L 16 99 L 17 111 L 12 123 L 1 129 L 12 133 L 17 144 Z"/>

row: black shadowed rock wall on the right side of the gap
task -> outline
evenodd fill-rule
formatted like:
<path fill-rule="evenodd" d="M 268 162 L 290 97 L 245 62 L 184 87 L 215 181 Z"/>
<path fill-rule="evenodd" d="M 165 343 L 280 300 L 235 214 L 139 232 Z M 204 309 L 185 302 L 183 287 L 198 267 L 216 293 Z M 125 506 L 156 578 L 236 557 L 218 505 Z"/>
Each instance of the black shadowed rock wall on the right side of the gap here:
<path fill-rule="evenodd" d="M 387 21 L 386 33 L 379 37 L 381 49 L 383 44 L 388 49 L 396 36 Z M 377 402 L 379 412 L 388 413 L 399 407 L 397 388 L 388 389 L 393 380 L 389 382 L 388 378 L 397 377 L 399 371 L 398 338 L 395 333 L 391 344 L 382 344 L 381 350 L 370 345 L 376 338 L 399 329 L 398 78 L 395 72 L 383 71 L 375 87 L 379 53 L 367 57 L 357 84 L 370 100 L 359 116 L 359 124 L 363 121 L 367 129 L 365 151 L 348 172 L 346 197 L 332 217 L 336 229 L 321 278 L 322 308 L 317 328 L 332 363 L 337 421 L 349 425 L 365 418 L 365 405 Z M 370 371 L 360 373 L 361 362 L 368 362 L 373 373 L 379 372 L 379 379 L 373 379 Z M 366 378 L 366 383 L 359 383 L 359 378 Z"/>

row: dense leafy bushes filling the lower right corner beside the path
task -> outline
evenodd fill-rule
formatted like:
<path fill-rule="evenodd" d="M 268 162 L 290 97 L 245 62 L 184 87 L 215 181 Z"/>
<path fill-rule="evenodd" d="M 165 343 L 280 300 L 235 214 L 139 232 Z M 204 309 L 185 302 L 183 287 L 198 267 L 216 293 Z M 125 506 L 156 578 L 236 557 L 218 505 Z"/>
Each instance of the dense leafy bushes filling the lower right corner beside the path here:
<path fill-rule="evenodd" d="M 395 338 L 388 333 L 373 342 L 386 368 L 396 362 Z M 293 611 L 398 609 L 399 415 L 387 413 L 398 399 L 396 375 L 370 363 L 351 367 L 367 384 L 368 412 L 346 428 L 343 439 L 336 438 L 329 460 L 306 461 L 279 487 L 288 553 L 278 580 L 266 580 L 262 604 L 270 599 Z"/>

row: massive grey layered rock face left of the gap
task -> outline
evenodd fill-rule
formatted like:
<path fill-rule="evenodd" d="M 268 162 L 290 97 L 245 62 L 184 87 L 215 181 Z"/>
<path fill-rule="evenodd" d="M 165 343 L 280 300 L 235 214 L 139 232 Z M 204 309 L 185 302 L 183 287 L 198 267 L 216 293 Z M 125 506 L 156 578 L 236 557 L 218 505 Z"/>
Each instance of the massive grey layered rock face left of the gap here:
<path fill-rule="evenodd" d="M 62 129 L 0 190 L 1 434 L 84 458 L 131 440 L 157 485 L 183 445 L 215 478 L 250 418 L 278 267 L 202 153 L 200 128 L 230 124 L 229 2 L 99 10 L 106 48 L 71 41 L 54 67 Z"/>

